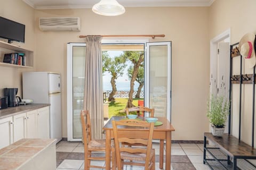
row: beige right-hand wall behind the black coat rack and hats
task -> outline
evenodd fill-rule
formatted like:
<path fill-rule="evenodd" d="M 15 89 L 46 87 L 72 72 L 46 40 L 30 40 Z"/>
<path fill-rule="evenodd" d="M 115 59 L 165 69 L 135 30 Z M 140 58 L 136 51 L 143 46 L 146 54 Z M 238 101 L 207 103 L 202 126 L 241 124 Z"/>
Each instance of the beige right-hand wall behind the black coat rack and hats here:
<path fill-rule="evenodd" d="M 256 33 L 254 0 L 216 0 L 209 11 L 210 39 L 230 28 L 231 44 L 238 43 L 247 32 Z M 239 73 L 239 57 L 233 60 L 233 73 Z M 245 68 L 243 74 L 252 73 L 252 69 Z M 239 128 L 239 85 L 233 85 L 233 119 L 232 134 L 238 137 Z M 242 86 L 242 140 L 251 145 L 252 133 L 252 85 Z M 256 139 L 256 133 L 254 134 Z M 254 139 L 254 141 L 255 141 Z M 256 143 L 254 143 L 255 146 Z"/>

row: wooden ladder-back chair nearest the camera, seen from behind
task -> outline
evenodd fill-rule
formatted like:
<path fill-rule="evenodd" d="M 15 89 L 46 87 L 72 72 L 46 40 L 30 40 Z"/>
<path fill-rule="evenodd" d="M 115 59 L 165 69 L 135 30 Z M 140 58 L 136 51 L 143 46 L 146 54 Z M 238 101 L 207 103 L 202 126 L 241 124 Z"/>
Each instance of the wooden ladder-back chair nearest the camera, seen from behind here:
<path fill-rule="evenodd" d="M 116 163 L 118 170 L 124 165 L 143 166 L 155 169 L 155 149 L 152 149 L 154 123 L 138 120 L 112 121 L 115 138 Z M 126 126 L 126 127 L 125 127 Z M 132 129 L 141 129 L 134 134 Z M 129 147 L 121 143 L 140 143 L 146 147 Z M 126 162 L 124 160 L 127 160 Z"/>

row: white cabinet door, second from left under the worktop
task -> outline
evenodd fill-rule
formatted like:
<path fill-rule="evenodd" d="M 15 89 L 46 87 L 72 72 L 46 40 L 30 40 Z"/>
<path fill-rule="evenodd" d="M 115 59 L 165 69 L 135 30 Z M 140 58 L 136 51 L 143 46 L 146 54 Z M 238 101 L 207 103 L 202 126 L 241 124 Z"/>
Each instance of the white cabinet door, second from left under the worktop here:
<path fill-rule="evenodd" d="M 27 137 L 27 114 L 21 113 L 13 116 L 13 141 Z"/>

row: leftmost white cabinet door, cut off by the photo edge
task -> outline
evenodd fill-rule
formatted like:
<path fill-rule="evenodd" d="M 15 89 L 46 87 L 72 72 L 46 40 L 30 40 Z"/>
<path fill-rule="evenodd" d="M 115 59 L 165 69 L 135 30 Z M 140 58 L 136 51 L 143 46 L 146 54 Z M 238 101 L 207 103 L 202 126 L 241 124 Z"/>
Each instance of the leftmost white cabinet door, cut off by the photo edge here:
<path fill-rule="evenodd" d="M 0 119 L 0 149 L 13 143 L 12 116 Z"/>

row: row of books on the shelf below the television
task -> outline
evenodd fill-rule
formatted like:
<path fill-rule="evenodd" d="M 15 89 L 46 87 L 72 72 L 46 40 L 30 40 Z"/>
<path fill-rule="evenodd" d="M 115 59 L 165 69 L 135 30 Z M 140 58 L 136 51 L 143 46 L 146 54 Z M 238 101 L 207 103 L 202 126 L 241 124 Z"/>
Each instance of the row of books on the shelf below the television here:
<path fill-rule="evenodd" d="M 26 65 L 26 56 L 24 53 L 4 54 L 4 63 Z"/>

